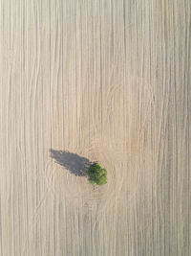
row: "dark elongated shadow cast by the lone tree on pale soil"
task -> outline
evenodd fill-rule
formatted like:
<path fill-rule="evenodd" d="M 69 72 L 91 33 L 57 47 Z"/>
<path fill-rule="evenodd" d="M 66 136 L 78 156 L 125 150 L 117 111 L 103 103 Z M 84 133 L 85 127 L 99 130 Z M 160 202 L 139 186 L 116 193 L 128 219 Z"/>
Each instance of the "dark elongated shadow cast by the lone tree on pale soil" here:
<path fill-rule="evenodd" d="M 50 150 L 51 157 L 55 160 L 55 162 L 72 174 L 77 176 L 86 176 L 92 162 L 83 156 L 80 156 L 74 152 L 69 151 L 54 151 Z"/>

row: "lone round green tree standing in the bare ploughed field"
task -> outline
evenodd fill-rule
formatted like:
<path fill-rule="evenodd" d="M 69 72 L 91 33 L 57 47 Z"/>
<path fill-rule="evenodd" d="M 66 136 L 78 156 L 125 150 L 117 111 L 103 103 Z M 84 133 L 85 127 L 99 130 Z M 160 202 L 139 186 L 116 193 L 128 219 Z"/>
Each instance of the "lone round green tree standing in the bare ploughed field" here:
<path fill-rule="evenodd" d="M 98 163 L 93 163 L 88 171 L 88 180 L 91 184 L 103 185 L 107 183 L 107 171 Z"/>

